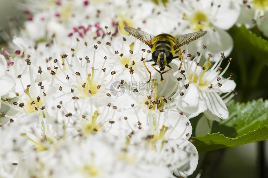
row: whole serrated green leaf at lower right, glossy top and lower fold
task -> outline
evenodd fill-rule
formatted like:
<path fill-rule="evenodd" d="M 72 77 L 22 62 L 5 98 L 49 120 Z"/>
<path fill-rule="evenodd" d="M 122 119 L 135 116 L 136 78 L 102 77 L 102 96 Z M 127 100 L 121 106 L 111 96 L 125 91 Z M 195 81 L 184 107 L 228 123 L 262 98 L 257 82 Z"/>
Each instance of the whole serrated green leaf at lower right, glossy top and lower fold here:
<path fill-rule="evenodd" d="M 229 118 L 213 122 L 211 134 L 192 137 L 198 152 L 228 148 L 268 139 L 268 100 L 227 103 Z"/>

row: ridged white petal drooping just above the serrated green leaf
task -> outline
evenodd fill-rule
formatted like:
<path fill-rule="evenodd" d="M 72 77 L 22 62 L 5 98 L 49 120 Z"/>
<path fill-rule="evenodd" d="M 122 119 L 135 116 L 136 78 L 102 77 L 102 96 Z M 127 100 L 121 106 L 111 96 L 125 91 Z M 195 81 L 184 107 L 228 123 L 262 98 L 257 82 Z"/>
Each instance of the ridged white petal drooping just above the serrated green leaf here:
<path fill-rule="evenodd" d="M 212 114 L 216 115 L 221 119 L 227 119 L 229 116 L 228 109 L 223 102 L 223 99 L 216 92 L 206 92 L 203 94 L 204 103 L 207 106 L 208 110 L 211 111 Z M 208 119 L 216 119 L 217 118 L 208 118 Z"/>

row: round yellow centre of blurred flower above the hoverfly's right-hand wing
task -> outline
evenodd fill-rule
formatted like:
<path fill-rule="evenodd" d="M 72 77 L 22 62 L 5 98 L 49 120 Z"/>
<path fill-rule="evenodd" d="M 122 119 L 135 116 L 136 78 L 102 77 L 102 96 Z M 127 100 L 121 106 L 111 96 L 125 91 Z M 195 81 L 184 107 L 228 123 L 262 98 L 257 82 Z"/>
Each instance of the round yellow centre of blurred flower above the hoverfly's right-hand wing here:
<path fill-rule="evenodd" d="M 195 12 L 192 18 L 189 19 L 192 25 L 192 28 L 195 31 L 200 31 L 206 29 L 206 25 L 203 22 L 208 22 L 206 14 L 201 11 Z"/>

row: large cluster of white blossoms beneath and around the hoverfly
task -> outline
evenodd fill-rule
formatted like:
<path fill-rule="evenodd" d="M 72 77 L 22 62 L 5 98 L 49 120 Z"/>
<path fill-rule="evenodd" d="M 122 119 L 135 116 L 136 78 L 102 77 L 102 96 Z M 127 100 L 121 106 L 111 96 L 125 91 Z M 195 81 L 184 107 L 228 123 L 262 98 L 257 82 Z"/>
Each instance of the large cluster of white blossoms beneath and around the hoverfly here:
<path fill-rule="evenodd" d="M 232 59 L 224 69 L 220 65 L 232 50 L 225 30 L 240 9 L 231 0 L 195 3 L 201 2 L 20 4 L 25 27 L 0 55 L 0 177 L 192 174 L 198 152 L 189 118 L 199 113 L 210 120 L 228 118 L 225 102 L 235 83 L 232 74 L 227 79 L 223 74 Z M 170 15 L 178 10 L 178 16 Z M 224 26 L 226 14 L 232 22 Z M 164 81 L 148 67 L 147 83 L 144 61 L 151 59 L 151 49 L 128 36 L 124 26 L 208 35 L 185 45 L 182 67 L 174 59 Z"/>

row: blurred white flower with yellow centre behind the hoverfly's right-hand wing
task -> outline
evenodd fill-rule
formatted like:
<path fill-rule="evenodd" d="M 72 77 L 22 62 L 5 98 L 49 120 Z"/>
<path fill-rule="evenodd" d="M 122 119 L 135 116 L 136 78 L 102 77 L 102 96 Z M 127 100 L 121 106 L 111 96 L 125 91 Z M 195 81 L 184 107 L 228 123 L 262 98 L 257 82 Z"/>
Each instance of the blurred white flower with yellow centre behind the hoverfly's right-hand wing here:
<path fill-rule="evenodd" d="M 181 34 L 182 32 L 186 34 L 199 30 L 208 31 L 200 40 L 189 44 L 190 53 L 196 50 L 201 51 L 200 46 L 202 45 L 206 45 L 208 48 L 204 56 L 208 56 L 210 53 L 215 57 L 215 59 L 211 59 L 212 61 L 219 59 L 221 52 L 224 52 L 226 56 L 231 53 L 233 41 L 226 30 L 231 28 L 237 21 L 240 12 L 238 3 L 233 0 L 189 0 L 182 3 L 177 1 L 172 6 L 171 11 L 175 11 L 175 9 L 176 11 L 179 9 L 184 14 L 183 20 L 178 20 L 178 29 L 181 32 L 175 30 L 173 32 L 175 35 L 183 35 Z"/>

